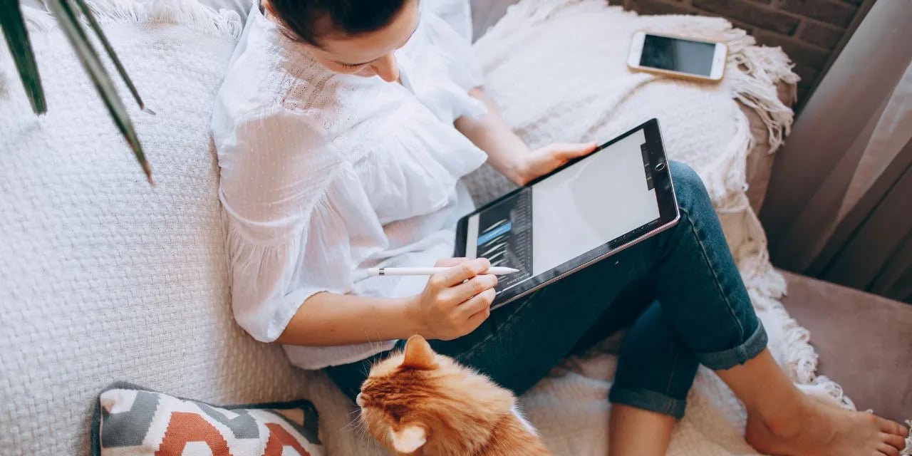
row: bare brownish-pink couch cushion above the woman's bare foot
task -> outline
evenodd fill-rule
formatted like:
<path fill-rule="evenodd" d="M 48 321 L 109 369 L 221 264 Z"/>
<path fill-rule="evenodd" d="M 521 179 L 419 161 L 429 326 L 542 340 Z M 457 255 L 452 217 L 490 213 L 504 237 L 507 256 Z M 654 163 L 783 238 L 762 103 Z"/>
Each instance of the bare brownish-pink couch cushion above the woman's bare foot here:
<path fill-rule="evenodd" d="M 912 413 L 912 306 L 782 274 L 789 284 L 782 304 L 811 331 L 819 373 L 842 385 L 858 409 L 907 420 Z"/>

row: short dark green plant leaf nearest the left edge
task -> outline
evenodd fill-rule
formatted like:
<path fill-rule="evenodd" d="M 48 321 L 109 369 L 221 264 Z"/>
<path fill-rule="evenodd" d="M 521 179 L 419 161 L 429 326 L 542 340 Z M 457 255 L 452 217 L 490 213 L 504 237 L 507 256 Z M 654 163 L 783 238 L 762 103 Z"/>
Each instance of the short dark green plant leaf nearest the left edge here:
<path fill-rule="evenodd" d="M 32 104 L 32 110 L 36 114 L 46 113 L 45 91 L 41 88 L 35 52 L 32 51 L 32 44 L 28 40 L 26 21 L 22 17 L 19 0 L 0 0 L 0 28 L 3 28 L 6 46 L 16 61 L 16 69 L 19 71 L 22 86 L 26 89 L 28 101 Z"/>

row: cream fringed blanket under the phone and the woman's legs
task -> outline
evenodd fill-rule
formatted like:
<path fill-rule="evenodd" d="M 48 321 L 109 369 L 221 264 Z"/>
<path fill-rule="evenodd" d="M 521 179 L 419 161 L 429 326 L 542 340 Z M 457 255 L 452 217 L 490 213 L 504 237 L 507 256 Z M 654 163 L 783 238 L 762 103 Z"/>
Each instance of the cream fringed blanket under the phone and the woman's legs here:
<path fill-rule="evenodd" d="M 705 85 L 630 72 L 629 37 L 640 29 L 726 42 L 731 55 L 723 82 Z M 775 358 L 806 391 L 853 408 L 838 385 L 815 376 L 814 348 L 779 302 L 785 283 L 772 269 L 762 227 L 745 195 L 752 139 L 735 100 L 760 114 L 776 150 L 793 113 L 777 98 L 775 84 L 797 79 L 780 49 L 753 45 L 744 31 L 719 18 L 637 16 L 596 0 L 525 0 L 482 36 L 476 49 L 486 90 L 533 147 L 606 140 L 658 117 L 669 157 L 687 162 L 706 182 Z M 529 418 L 555 454 L 607 454 L 606 394 L 617 363 L 606 350 L 610 345 L 567 360 L 523 397 Z M 742 437 L 744 409 L 709 369 L 700 368 L 688 400 L 668 454 L 755 453 Z"/>

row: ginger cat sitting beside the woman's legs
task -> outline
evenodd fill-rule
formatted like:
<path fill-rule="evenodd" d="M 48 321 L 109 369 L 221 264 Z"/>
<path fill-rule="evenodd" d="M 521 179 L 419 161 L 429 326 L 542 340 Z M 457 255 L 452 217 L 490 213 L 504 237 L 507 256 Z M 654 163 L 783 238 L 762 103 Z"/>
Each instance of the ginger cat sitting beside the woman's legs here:
<path fill-rule="evenodd" d="M 397 455 L 551 454 L 512 392 L 434 353 L 420 336 L 371 368 L 358 406 L 368 432 Z"/>

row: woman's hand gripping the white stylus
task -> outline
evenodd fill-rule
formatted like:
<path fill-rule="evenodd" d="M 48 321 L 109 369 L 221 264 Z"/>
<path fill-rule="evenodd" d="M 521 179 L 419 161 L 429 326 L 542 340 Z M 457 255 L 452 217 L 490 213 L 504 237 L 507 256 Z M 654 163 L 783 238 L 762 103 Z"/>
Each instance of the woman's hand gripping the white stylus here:
<path fill-rule="evenodd" d="M 436 265 L 451 267 L 431 275 L 424 291 L 409 301 L 410 318 L 426 338 L 465 336 L 491 315 L 497 276 L 482 274 L 491 267 L 484 258 L 448 258 Z"/>

